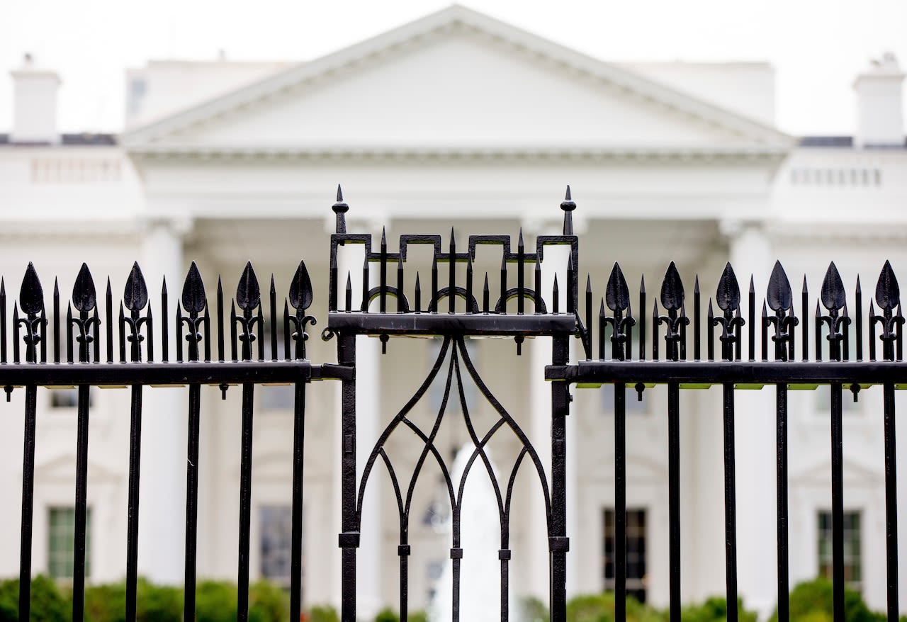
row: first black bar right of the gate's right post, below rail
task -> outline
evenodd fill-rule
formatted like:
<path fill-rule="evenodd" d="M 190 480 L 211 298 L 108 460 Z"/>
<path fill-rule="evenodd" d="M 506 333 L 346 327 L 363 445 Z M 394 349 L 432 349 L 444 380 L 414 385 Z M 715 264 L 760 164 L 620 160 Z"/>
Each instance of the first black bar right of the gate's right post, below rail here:
<path fill-rule="evenodd" d="M 614 384 L 614 617 L 627 619 L 627 385 Z"/>

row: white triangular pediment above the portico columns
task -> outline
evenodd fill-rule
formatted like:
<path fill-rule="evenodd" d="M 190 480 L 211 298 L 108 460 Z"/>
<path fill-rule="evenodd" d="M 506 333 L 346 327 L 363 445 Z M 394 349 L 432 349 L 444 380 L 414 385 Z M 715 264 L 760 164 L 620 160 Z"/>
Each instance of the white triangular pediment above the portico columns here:
<path fill-rule="evenodd" d="M 784 150 L 785 134 L 461 6 L 127 132 L 131 151 Z"/>

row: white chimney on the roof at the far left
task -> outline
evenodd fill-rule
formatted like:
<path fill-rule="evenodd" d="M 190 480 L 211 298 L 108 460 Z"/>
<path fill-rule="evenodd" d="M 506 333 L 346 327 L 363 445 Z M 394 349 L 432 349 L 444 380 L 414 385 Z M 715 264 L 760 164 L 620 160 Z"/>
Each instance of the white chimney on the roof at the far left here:
<path fill-rule="evenodd" d="M 60 77 L 34 66 L 25 54 L 22 67 L 13 76 L 13 131 L 10 141 L 49 144 L 60 141 L 56 128 L 57 87 Z"/>

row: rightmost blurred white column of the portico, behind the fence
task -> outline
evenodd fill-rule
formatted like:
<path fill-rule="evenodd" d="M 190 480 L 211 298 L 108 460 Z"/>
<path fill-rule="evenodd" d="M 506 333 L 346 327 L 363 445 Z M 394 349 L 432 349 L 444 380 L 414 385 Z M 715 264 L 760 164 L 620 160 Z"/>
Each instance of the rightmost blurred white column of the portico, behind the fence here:
<path fill-rule="evenodd" d="M 766 295 L 772 269 L 772 249 L 764 225 L 756 221 L 722 222 L 729 238 L 730 262 L 740 284 L 742 312 L 746 314 L 750 275 L 756 287 L 756 317 Z M 744 326 L 744 335 L 749 326 Z M 760 328 L 756 325 L 756 338 Z M 743 356 L 746 352 L 746 338 Z M 777 559 L 775 501 L 775 391 L 737 391 L 736 418 L 736 517 L 737 587 L 746 607 L 760 619 L 770 615 L 776 601 Z M 715 425 L 721 425 L 715 413 Z"/>

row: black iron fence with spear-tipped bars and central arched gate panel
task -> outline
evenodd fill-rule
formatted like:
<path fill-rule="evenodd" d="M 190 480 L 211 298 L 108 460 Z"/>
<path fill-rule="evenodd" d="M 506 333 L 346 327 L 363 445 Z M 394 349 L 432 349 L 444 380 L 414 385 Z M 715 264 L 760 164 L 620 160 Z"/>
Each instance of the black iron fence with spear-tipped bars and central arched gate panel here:
<path fill-rule="evenodd" d="M 571 212 L 575 209 L 570 190 L 561 203 L 563 234 L 539 236 L 527 248 L 522 232 L 515 249 L 510 236 L 473 235 L 466 248 L 459 249 L 453 232 L 444 251 L 443 238 L 434 235 L 403 235 L 397 249 L 388 249 L 385 235 L 377 248 L 371 235 L 346 232 L 348 207 L 337 193 L 336 234 L 331 236 L 330 278 L 327 296 L 327 328 L 322 337 L 336 337 L 336 364 L 313 364 L 307 360 L 307 326 L 315 318 L 307 315 L 313 303 L 313 289 L 304 263 L 299 264 L 286 296 L 277 294 L 272 277 L 268 296 L 263 296 L 258 278 L 247 264 L 239 278 L 235 296 L 229 300 L 218 282 L 212 301 L 206 293 L 199 270 L 193 263 L 181 296 L 171 301 L 166 284 L 160 296 L 160 316 L 152 316 L 149 293 L 136 264 L 126 281 L 122 298 L 112 295 L 110 281 L 98 296 L 87 266 L 75 280 L 71 299 L 63 303 L 54 284 L 48 312 L 46 296 L 34 267 L 25 271 L 18 298 L 8 321 L 5 286 L 0 284 L 0 386 L 7 396 L 15 387 L 24 387 L 24 461 L 22 490 L 22 534 L 19 612 L 29 617 L 32 576 L 32 529 L 34 504 L 34 448 L 36 391 L 39 386 L 78 387 L 78 423 L 75 484 L 75 532 L 73 560 L 73 619 L 83 619 L 85 583 L 86 486 L 88 428 L 93 385 L 131 387 L 131 442 L 129 499 L 124 513 L 128 520 L 126 569 L 126 619 L 135 619 L 139 479 L 141 471 L 142 388 L 146 385 L 188 385 L 187 404 L 187 492 L 185 532 L 184 618 L 195 618 L 196 540 L 198 530 L 198 481 L 200 444 L 200 386 L 213 384 L 226 392 L 241 385 L 241 465 L 239 486 L 239 619 L 249 616 L 249 520 L 252 490 L 253 394 L 256 384 L 288 383 L 295 386 L 294 450 L 292 463 L 292 544 L 291 619 L 299 619 L 302 547 L 302 470 L 307 384 L 322 379 L 339 380 L 341 391 L 342 447 L 341 525 L 338 544 L 342 549 L 342 611 L 344 620 L 356 619 L 356 549 L 360 544 L 363 500 L 375 465 L 384 465 L 392 483 L 399 516 L 400 596 L 399 609 L 407 617 L 410 509 L 415 482 L 424 462 L 434 461 L 443 474 L 444 490 L 453 518 L 450 558 L 453 564 L 453 620 L 460 619 L 460 516 L 463 487 L 473 470 L 486 471 L 497 499 L 500 530 L 501 619 L 509 617 L 508 585 L 511 500 L 514 481 L 521 468 L 537 476 L 546 512 L 550 549 L 551 619 L 562 621 L 566 611 L 567 538 L 565 418 L 569 413 L 571 384 L 613 384 L 615 446 L 615 581 L 617 619 L 626 618 L 627 593 L 627 507 L 626 507 L 626 388 L 635 388 L 641 397 L 647 386 L 668 386 L 668 516 L 669 516 L 669 599 L 671 620 L 680 616 L 680 407 L 679 392 L 688 385 L 721 385 L 723 391 L 725 524 L 727 599 L 736 602 L 736 474 L 735 474 L 735 393 L 737 384 L 775 387 L 777 455 L 777 588 L 778 617 L 789 619 L 788 585 L 788 502 L 787 502 L 787 392 L 796 384 L 823 384 L 831 387 L 829 403 L 832 444 L 832 525 L 834 619 L 844 620 L 844 483 L 842 403 L 844 391 L 856 399 L 870 385 L 883 386 L 884 471 L 886 492 L 886 568 L 888 619 L 898 617 L 897 508 L 895 481 L 894 392 L 907 384 L 907 364 L 902 362 L 900 292 L 892 267 L 885 263 L 870 300 L 864 309 L 859 280 L 848 301 L 844 284 L 832 264 L 827 271 L 812 319 L 808 314 L 812 298 L 806 282 L 795 311 L 795 296 L 781 264 L 776 263 L 765 296 L 758 296 L 750 281 L 741 294 L 733 268 L 728 264 L 718 281 L 715 296 L 708 296 L 703 313 L 703 295 L 698 279 L 688 313 L 685 288 L 672 263 L 662 281 L 659 296 L 652 301 L 646 288 L 639 287 L 639 306 L 634 314 L 629 287 L 615 264 L 595 312 L 595 295 L 587 278 L 585 296 L 579 293 L 579 243 L 573 235 Z M 354 308 L 351 274 L 341 273 L 338 248 L 364 248 L 361 305 Z M 426 277 L 405 269 L 407 249 L 428 245 L 432 267 Z M 488 274 L 473 274 L 476 248 L 500 250 L 498 287 L 492 291 Z M 566 277 L 554 278 L 551 291 L 542 292 L 541 266 L 546 248 L 567 248 Z M 458 270 L 460 264 L 464 270 Z M 530 272 L 531 277 L 526 278 Z M 446 273 L 446 274 L 445 274 Z M 463 274 L 463 280 L 458 275 Z M 426 283 L 427 281 L 427 283 Z M 376 285 L 372 285 L 376 282 Z M 426 287 L 427 286 L 427 287 Z M 566 296 L 561 296 L 561 287 Z M 340 304 L 340 300 L 343 304 Z M 279 300 L 282 297 L 283 300 Z M 580 299 L 582 307 L 580 307 Z M 563 305 L 561 308 L 561 301 Z M 282 302 L 282 306 L 278 305 Z M 761 313 L 757 302 L 761 302 Z M 848 304 L 850 302 L 850 304 Z M 660 308 L 659 308 L 660 303 Z M 714 303 L 714 305 L 713 305 Z M 821 303 L 821 306 L 820 306 Z M 65 319 L 61 314 L 65 304 Z M 715 307 L 717 306 L 717 311 Z M 376 308 L 375 308 L 376 307 Z M 824 307 L 824 311 L 822 310 Z M 265 321 L 267 318 L 267 322 Z M 865 326 L 863 326 L 865 324 Z M 283 329 L 279 330 L 282 326 Z M 865 328 L 865 331 L 864 331 Z M 664 333 L 662 334 L 662 330 Z M 12 335 L 9 335 L 9 332 Z M 853 331 L 855 347 L 850 348 Z M 868 339 L 864 339 L 864 333 Z M 61 338 L 61 335 L 65 338 Z M 284 335 L 281 337 L 280 335 Z M 373 335 L 386 346 L 395 335 L 436 335 L 443 337 L 440 354 L 424 382 L 387 424 L 369 452 L 361 477 L 356 475 L 356 336 Z M 512 337 L 516 354 L 528 336 L 548 336 L 552 342 L 551 365 L 545 378 L 551 381 L 551 463 L 541 461 L 520 424 L 508 413 L 483 382 L 465 347 L 468 337 L 495 335 Z M 172 338 L 171 338 L 172 337 Z M 569 362 L 569 345 L 580 339 L 584 359 Z M 865 343 L 864 343 L 865 341 Z M 185 345 L 184 345 L 185 342 Z M 270 344 L 266 360 L 266 343 Z M 746 342 L 746 347 L 744 346 Z M 12 355 L 7 344 L 12 344 Z M 53 350 L 48 352 L 48 344 Z M 823 361 L 824 343 L 829 359 Z M 706 355 L 702 355 L 702 346 Z M 23 352 L 24 350 L 24 352 Z M 598 356 L 596 356 L 596 354 Z M 812 355 L 812 358 L 811 358 Z M 429 429 L 408 417 L 414 404 L 424 396 L 434 379 L 443 378 L 444 361 L 450 361 L 442 405 Z M 491 404 L 497 420 L 488 432 L 479 434 L 463 396 L 463 377 L 479 388 Z M 541 380 L 541 379 L 539 379 Z M 445 405 L 459 400 L 463 423 L 473 444 L 470 460 L 456 480 L 450 464 L 435 444 Z M 419 454 L 409 481 L 395 471 L 388 439 L 397 431 L 411 435 Z M 487 453 L 496 434 L 510 433 L 521 448 L 510 465 L 507 477 L 498 481 Z M 546 469 L 550 469 L 546 474 Z M 736 607 L 728 607 L 728 619 L 736 619 Z"/>

